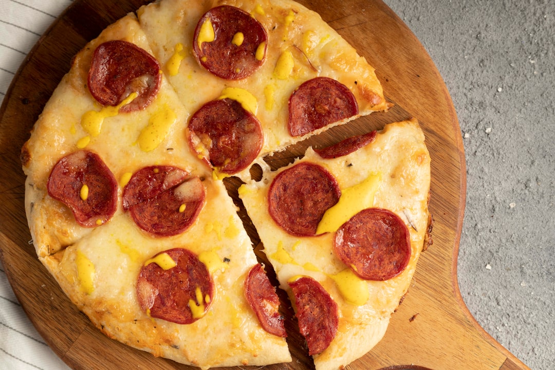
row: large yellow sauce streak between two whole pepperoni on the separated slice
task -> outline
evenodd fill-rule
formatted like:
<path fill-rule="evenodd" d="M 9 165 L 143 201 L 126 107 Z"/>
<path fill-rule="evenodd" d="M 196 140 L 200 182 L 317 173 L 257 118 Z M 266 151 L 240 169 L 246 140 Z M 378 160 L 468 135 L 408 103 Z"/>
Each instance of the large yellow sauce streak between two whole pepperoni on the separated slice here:
<path fill-rule="evenodd" d="M 362 183 L 341 190 L 339 202 L 325 212 L 318 224 L 316 234 L 335 232 L 352 216 L 374 205 L 374 195 L 380 181 L 380 173 L 372 174 Z"/>

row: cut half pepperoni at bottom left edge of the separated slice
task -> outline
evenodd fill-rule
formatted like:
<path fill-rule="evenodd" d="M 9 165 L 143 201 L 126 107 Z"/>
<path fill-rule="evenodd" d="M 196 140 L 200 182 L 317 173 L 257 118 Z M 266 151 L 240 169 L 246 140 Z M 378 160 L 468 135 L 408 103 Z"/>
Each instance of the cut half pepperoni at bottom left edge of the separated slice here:
<path fill-rule="evenodd" d="M 335 338 L 339 323 L 337 303 L 319 282 L 302 276 L 289 282 L 295 296 L 299 331 L 306 339 L 309 354 L 323 352 Z"/>

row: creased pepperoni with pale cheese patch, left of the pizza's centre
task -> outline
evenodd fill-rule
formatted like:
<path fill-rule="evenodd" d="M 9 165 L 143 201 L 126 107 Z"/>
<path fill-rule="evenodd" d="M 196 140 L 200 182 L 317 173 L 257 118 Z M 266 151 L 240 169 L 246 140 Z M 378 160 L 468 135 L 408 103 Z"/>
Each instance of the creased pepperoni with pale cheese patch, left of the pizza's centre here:
<path fill-rule="evenodd" d="M 171 166 L 140 169 L 123 192 L 137 226 L 157 236 L 181 234 L 196 220 L 206 191 L 200 178 Z"/>

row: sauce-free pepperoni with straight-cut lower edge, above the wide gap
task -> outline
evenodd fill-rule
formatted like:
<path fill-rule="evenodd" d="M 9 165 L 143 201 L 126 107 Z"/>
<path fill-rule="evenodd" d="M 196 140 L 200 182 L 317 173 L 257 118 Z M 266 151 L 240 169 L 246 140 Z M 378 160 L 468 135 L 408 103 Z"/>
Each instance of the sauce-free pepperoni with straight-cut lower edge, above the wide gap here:
<path fill-rule="evenodd" d="M 291 136 L 302 136 L 359 113 L 355 95 L 344 84 L 329 77 L 302 83 L 289 97 Z"/>

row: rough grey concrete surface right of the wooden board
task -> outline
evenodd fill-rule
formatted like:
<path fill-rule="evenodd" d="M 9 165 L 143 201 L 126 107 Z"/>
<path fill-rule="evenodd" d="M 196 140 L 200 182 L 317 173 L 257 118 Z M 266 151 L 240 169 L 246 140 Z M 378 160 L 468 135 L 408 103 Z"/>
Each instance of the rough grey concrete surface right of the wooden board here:
<path fill-rule="evenodd" d="M 515 356 L 553 369 L 555 1 L 385 2 L 435 62 L 461 126 L 462 296 Z"/>

